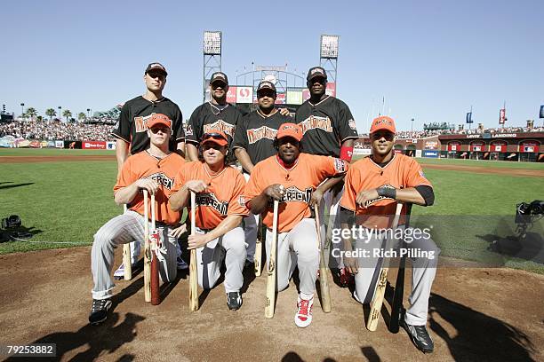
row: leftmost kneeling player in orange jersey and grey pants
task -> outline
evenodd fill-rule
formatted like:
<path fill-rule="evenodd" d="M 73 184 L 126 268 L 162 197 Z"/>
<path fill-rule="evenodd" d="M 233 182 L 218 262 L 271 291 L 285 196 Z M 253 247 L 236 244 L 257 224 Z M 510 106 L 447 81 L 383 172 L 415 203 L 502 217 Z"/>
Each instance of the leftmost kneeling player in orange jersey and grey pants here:
<path fill-rule="evenodd" d="M 160 277 L 165 282 L 176 278 L 176 245 L 182 231 L 175 227 L 180 222 L 180 213 L 168 205 L 167 194 L 174 184 L 174 176 L 185 160 L 169 150 L 172 121 L 164 114 L 153 114 L 147 121 L 150 146 L 147 150 L 130 156 L 123 164 L 114 186 L 117 204 L 130 204 L 123 215 L 116 216 L 100 227 L 94 234 L 91 266 L 94 287 L 92 288 L 91 324 L 99 324 L 108 316 L 111 307 L 112 289 L 110 276 L 114 250 L 121 244 L 144 238 L 144 200 L 142 190 L 155 194 L 156 228 L 162 235 L 163 245 L 158 260 Z M 148 215 L 150 215 L 148 210 Z"/>

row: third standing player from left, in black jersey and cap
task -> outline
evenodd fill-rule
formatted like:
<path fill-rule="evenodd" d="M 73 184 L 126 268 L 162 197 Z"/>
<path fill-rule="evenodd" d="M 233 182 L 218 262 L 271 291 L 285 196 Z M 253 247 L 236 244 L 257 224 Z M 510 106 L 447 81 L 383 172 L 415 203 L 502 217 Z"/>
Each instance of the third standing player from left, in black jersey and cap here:
<path fill-rule="evenodd" d="M 259 109 L 244 115 L 236 127 L 232 149 L 244 169 L 244 177 L 249 179 L 255 165 L 276 154 L 274 139 L 278 128 L 285 122 L 292 122 L 289 115 L 282 114 L 275 106 L 276 86 L 274 83 L 262 81 L 257 87 L 257 103 Z M 253 263 L 255 240 L 259 215 L 244 218 L 244 232 L 247 247 L 247 262 Z"/>

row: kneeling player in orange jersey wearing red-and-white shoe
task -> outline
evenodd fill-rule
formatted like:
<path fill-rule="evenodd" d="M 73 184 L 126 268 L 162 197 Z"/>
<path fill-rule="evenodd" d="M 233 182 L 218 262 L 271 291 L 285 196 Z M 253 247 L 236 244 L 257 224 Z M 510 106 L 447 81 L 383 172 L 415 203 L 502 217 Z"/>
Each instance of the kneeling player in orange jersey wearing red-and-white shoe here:
<path fill-rule="evenodd" d="M 334 183 L 324 183 L 331 178 L 340 182 L 348 169 L 348 162 L 327 156 L 300 153 L 302 130 L 294 123 L 284 123 L 277 131 L 276 155 L 260 161 L 252 170 L 245 187 L 245 204 L 253 214 L 262 214 L 267 225 L 267 263 L 273 238 L 271 229 L 273 210 L 271 201 L 280 201 L 277 235 L 277 289 L 289 285 L 292 271 L 299 267 L 300 295 L 294 317 L 298 327 L 308 327 L 312 321 L 314 291 L 319 269 L 319 249 L 316 222 L 310 218 L 308 206 L 316 199 L 312 193 L 327 191 Z"/>

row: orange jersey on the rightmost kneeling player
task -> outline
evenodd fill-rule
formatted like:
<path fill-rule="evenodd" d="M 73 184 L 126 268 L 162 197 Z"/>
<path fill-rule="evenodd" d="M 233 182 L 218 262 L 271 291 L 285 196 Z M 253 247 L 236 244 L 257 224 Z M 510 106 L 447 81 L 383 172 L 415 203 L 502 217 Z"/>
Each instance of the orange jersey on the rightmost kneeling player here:
<path fill-rule="evenodd" d="M 432 187 L 423 174 L 420 164 L 412 157 L 394 153 L 393 160 L 383 168 L 372 161 L 371 157 L 365 157 L 356 161 L 349 168 L 340 206 L 355 211 L 358 224 L 363 224 L 368 228 L 386 228 L 390 219 L 388 216 L 395 215 L 396 201 L 380 196 L 378 199 L 368 202 L 367 209 L 364 209 L 356 204 L 357 194 L 363 190 L 379 187 L 398 190 L 419 185 Z M 404 224 L 403 219 L 400 224 Z"/>

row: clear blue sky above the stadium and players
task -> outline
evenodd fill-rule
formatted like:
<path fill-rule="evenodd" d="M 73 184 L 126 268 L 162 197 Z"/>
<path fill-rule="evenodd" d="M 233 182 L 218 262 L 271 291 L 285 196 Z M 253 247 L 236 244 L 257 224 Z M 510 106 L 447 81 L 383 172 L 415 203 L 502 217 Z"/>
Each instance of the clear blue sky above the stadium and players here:
<path fill-rule="evenodd" d="M 168 69 L 164 95 L 184 118 L 202 102 L 204 30 L 223 33 L 222 68 L 319 62 L 322 34 L 340 35 L 338 97 L 364 132 L 381 109 L 400 130 L 424 122 L 497 127 L 538 119 L 544 104 L 541 0 L 360 2 L 4 2 L 0 102 L 40 114 L 107 110 L 142 94 L 146 65 Z M 232 82 L 231 82 L 232 83 Z"/>

